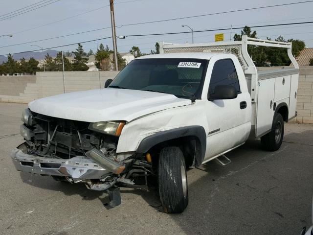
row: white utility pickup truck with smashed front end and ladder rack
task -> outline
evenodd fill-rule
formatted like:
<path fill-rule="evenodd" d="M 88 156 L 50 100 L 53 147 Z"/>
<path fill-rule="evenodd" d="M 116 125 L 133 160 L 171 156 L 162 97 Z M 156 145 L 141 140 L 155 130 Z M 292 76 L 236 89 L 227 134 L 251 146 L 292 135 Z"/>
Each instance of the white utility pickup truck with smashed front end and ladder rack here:
<path fill-rule="evenodd" d="M 247 45 L 286 48 L 294 68 L 258 72 Z M 17 170 L 108 190 L 111 206 L 119 187 L 157 182 L 164 211 L 178 213 L 188 204 L 187 168 L 249 138 L 281 146 L 297 86 L 290 43 L 161 43 L 160 54 L 136 58 L 105 89 L 30 102 L 25 142 L 11 157 Z"/>

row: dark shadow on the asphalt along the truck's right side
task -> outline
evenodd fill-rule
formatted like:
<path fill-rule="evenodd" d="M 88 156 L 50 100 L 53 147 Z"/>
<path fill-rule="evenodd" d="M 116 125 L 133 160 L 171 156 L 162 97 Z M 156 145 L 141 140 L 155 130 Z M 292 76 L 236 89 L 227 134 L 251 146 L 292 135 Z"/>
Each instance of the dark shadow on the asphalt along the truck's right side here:
<path fill-rule="evenodd" d="M 170 217 L 187 235 L 298 234 L 312 223 L 312 151 L 313 131 L 287 135 L 276 152 L 249 141 L 226 154 L 232 164 L 190 170 L 189 205 Z"/>

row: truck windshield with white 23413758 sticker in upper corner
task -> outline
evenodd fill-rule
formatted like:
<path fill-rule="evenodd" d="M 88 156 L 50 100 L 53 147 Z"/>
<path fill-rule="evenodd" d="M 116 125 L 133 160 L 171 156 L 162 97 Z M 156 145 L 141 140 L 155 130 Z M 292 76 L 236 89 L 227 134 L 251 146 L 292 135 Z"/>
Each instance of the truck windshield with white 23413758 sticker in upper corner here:
<path fill-rule="evenodd" d="M 109 88 L 174 94 L 199 99 L 208 60 L 137 59 L 127 65 Z"/>

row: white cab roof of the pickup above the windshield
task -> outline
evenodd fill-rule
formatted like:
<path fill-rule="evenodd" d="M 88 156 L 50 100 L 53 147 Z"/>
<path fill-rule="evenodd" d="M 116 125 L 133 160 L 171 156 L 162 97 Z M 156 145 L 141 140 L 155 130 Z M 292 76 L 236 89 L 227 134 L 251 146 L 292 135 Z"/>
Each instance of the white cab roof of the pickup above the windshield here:
<path fill-rule="evenodd" d="M 158 58 L 184 58 L 184 59 L 204 59 L 209 60 L 214 55 L 221 53 L 207 53 L 207 52 L 186 52 L 186 53 L 167 53 L 167 54 L 154 54 L 144 55 L 136 59 L 158 59 Z"/>

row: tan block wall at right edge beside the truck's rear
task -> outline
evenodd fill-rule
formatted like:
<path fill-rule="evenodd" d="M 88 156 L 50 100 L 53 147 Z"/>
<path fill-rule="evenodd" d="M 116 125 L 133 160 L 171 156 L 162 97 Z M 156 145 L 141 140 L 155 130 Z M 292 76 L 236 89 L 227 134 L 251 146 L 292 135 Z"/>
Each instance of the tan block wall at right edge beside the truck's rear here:
<path fill-rule="evenodd" d="M 299 71 L 296 121 L 313 123 L 313 66 L 302 66 Z"/>

